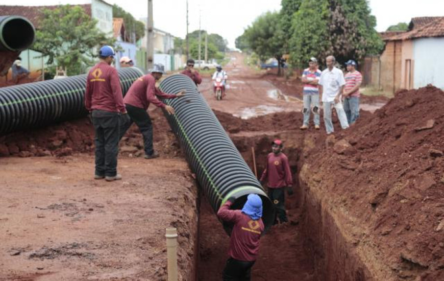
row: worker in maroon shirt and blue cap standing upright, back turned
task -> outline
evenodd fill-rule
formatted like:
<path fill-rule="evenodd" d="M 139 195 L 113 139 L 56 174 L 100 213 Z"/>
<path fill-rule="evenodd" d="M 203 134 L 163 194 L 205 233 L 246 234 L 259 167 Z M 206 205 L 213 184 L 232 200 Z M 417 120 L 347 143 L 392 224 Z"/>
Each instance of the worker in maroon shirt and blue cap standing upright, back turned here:
<path fill-rule="evenodd" d="M 121 116 L 125 109 L 120 80 L 111 66 L 115 52 L 104 45 L 98 52 L 100 62 L 88 73 L 85 90 L 85 107 L 91 113 L 95 130 L 95 179 L 107 181 L 121 179 L 117 174 L 117 153 Z"/>

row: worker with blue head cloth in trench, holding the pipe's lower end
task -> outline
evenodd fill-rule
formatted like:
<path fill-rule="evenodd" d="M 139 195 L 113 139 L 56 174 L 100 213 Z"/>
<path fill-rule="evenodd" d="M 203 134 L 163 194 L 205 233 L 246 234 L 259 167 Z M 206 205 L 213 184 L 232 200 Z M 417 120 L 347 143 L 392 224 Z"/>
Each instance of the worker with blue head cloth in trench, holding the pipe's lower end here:
<path fill-rule="evenodd" d="M 241 210 L 231 210 L 235 198 L 231 197 L 220 206 L 217 217 L 233 223 L 230 236 L 229 259 L 224 268 L 224 281 L 249 281 L 259 252 L 259 239 L 264 231 L 262 199 L 249 194 Z"/>

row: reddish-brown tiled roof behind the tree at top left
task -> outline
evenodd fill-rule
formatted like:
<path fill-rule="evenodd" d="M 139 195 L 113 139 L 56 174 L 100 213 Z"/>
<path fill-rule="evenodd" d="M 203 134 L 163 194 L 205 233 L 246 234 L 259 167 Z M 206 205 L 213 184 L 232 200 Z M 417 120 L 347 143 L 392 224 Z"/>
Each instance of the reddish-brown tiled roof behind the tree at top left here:
<path fill-rule="evenodd" d="M 73 5 L 82 7 L 85 12 L 91 16 L 91 4 L 84 5 Z M 42 10 L 46 9 L 56 9 L 59 6 L 0 6 L 0 16 L 22 16 L 28 18 L 34 27 L 38 29 L 40 27 L 40 19 L 43 16 Z"/>

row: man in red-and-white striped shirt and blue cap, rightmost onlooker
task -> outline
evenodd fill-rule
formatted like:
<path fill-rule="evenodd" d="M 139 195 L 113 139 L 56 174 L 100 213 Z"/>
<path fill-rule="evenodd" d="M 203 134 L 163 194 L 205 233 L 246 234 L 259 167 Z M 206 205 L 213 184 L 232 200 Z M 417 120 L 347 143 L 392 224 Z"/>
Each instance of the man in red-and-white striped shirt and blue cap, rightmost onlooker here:
<path fill-rule="evenodd" d="M 346 86 L 342 96 L 344 97 L 344 111 L 346 111 L 347 121 L 352 125 L 359 118 L 359 87 L 362 82 L 362 75 L 356 70 L 356 61 L 349 60 L 347 63 L 348 73 L 344 76 Z"/>

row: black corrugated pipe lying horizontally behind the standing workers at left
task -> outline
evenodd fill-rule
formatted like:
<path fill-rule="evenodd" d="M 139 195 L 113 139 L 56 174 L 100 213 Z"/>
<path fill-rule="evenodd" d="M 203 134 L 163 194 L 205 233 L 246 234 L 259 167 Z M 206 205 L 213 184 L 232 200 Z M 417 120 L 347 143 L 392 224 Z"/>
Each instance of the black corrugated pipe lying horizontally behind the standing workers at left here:
<path fill-rule="evenodd" d="M 125 93 L 145 73 L 137 67 L 118 71 Z M 0 88 L 0 135 L 81 118 L 86 74 Z"/>

